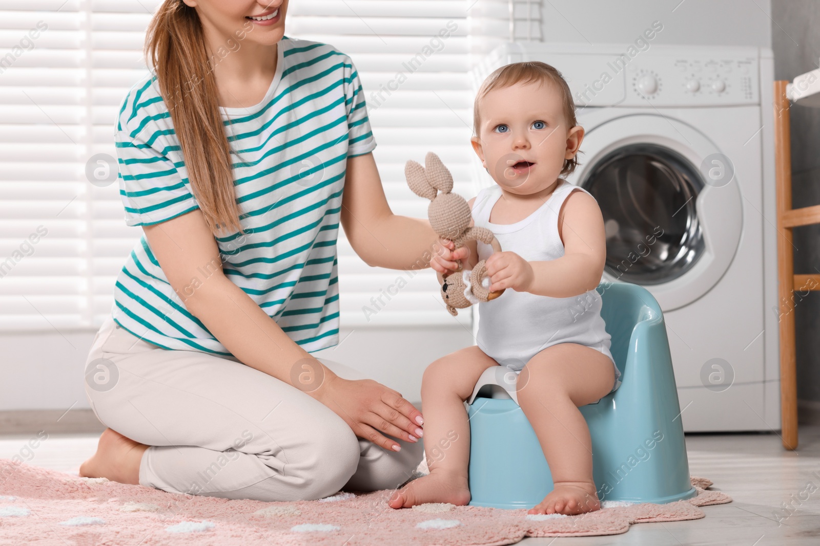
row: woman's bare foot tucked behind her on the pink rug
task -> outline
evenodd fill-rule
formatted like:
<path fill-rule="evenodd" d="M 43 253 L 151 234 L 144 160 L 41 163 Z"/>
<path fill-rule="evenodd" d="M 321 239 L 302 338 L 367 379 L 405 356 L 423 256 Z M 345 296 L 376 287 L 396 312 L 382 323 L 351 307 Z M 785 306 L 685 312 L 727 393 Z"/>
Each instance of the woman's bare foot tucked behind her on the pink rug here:
<path fill-rule="evenodd" d="M 80 465 L 80 476 L 139 485 L 139 462 L 146 449 L 148 445 L 107 428 L 100 435 L 97 453 Z"/>

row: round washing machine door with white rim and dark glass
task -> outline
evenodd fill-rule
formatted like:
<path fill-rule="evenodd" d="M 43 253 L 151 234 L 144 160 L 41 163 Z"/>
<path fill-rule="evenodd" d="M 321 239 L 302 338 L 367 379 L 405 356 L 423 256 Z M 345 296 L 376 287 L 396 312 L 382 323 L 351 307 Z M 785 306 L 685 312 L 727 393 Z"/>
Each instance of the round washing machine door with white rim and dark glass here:
<path fill-rule="evenodd" d="M 591 129 L 570 181 L 604 215 L 604 279 L 649 290 L 661 309 L 690 304 L 726 273 L 742 230 L 731 162 L 690 125 L 627 115 Z"/>

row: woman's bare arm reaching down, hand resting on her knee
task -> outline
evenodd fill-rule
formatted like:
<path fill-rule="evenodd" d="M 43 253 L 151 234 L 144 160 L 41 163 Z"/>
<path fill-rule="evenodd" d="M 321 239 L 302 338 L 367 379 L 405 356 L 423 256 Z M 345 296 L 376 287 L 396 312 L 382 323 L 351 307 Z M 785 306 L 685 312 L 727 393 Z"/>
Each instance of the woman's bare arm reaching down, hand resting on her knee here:
<path fill-rule="evenodd" d="M 356 435 L 385 449 L 393 449 L 395 442 L 376 429 L 407 441 L 417 435 L 421 413 L 398 392 L 369 379 L 336 376 L 225 277 L 219 247 L 200 210 L 143 229 L 186 309 L 240 362 L 305 391 L 342 417 Z M 203 279 L 203 270 L 213 273 Z M 311 368 L 317 384 L 294 385 L 303 364 Z M 294 367 L 298 369 L 292 373 Z"/>

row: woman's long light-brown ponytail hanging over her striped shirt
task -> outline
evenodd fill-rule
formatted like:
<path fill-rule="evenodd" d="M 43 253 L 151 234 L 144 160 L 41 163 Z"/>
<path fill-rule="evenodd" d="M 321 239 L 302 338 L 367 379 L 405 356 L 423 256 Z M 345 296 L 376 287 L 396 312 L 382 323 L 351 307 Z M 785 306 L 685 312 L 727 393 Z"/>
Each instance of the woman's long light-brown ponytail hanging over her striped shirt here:
<path fill-rule="evenodd" d="M 241 232 L 230 145 L 196 9 L 182 0 L 162 2 L 148 24 L 144 52 L 157 74 L 208 227 L 214 233 Z"/>

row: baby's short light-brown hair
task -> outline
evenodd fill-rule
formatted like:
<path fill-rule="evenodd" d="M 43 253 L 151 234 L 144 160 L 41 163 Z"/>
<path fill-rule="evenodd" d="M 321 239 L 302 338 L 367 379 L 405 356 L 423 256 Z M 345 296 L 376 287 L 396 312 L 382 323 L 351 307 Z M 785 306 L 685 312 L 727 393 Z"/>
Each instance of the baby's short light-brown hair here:
<path fill-rule="evenodd" d="M 478 109 L 481 99 L 493 89 L 507 88 L 516 83 L 541 83 L 542 85 L 552 83 L 553 88 L 561 93 L 563 115 L 564 119 L 567 120 L 567 129 L 572 129 L 578 124 L 575 119 L 575 102 L 572 101 L 572 93 L 570 93 L 567 82 L 555 67 L 541 61 L 515 62 L 512 65 L 505 65 L 495 70 L 487 76 L 484 83 L 481 83 L 481 88 L 476 93 L 476 102 L 473 103 L 472 109 L 473 131 L 476 133 L 476 137 L 479 136 L 479 127 L 481 126 L 481 116 Z M 575 170 L 578 165 L 576 157 L 564 160 L 563 169 L 561 169 L 562 175 L 571 174 Z"/>

